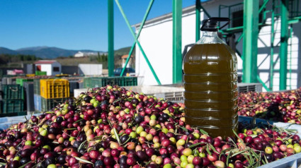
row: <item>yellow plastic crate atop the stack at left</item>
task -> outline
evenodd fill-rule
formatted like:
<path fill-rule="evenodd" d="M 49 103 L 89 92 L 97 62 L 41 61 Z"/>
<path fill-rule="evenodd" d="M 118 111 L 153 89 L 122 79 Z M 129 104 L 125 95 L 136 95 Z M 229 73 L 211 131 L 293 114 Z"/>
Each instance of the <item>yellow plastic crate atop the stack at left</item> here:
<path fill-rule="evenodd" d="M 40 94 L 45 99 L 69 97 L 69 81 L 66 79 L 41 79 Z"/>

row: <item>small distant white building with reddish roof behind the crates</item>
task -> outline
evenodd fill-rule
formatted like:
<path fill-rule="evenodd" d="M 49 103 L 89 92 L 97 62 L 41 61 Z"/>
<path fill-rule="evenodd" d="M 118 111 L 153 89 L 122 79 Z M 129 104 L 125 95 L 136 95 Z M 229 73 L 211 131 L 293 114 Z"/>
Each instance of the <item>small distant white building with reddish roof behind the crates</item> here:
<path fill-rule="evenodd" d="M 35 71 L 46 71 L 47 76 L 61 74 L 62 66 L 55 60 L 35 61 Z"/>

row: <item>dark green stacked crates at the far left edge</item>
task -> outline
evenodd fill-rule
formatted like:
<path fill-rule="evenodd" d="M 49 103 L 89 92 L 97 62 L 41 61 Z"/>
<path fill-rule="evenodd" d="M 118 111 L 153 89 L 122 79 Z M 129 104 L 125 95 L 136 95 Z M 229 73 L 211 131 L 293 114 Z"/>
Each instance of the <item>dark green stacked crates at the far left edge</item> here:
<path fill-rule="evenodd" d="M 2 85 L 3 101 L 0 116 L 21 116 L 24 111 L 24 92 L 21 85 Z"/>

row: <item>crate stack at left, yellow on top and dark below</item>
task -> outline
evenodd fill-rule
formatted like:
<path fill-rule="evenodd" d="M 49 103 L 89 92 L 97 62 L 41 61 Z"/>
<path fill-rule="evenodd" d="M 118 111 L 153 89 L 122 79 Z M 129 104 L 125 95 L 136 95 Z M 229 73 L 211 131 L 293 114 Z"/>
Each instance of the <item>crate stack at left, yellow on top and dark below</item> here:
<path fill-rule="evenodd" d="M 40 104 L 42 112 L 64 102 L 69 97 L 69 81 L 66 79 L 41 79 Z"/>

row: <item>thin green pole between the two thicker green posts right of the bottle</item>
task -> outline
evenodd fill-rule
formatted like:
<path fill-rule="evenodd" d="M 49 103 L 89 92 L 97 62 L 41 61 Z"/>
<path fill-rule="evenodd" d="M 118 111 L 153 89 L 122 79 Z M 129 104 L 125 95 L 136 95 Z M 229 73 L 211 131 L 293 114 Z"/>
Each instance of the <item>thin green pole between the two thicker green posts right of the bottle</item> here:
<path fill-rule="evenodd" d="M 272 1 L 271 13 L 271 56 L 270 56 L 270 90 L 273 90 L 274 77 L 274 23 L 275 23 L 275 0 Z"/>

